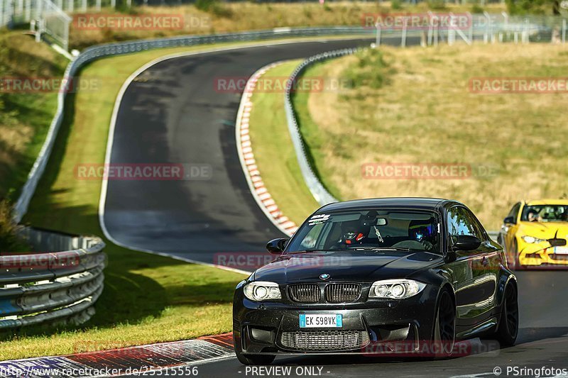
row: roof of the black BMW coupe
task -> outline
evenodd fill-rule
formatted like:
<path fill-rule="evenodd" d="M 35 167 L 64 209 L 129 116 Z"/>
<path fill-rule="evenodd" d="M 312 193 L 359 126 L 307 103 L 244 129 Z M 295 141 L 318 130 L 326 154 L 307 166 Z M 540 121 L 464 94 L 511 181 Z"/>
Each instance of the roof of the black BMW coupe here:
<path fill-rule="evenodd" d="M 422 197 L 391 197 L 391 198 L 372 198 L 372 199 L 354 199 L 351 201 L 334 202 L 327 204 L 317 211 L 351 210 L 351 209 L 368 209 L 373 207 L 391 207 L 391 208 L 410 208 L 437 210 L 445 204 L 459 204 L 457 201 L 439 198 L 422 198 Z"/>

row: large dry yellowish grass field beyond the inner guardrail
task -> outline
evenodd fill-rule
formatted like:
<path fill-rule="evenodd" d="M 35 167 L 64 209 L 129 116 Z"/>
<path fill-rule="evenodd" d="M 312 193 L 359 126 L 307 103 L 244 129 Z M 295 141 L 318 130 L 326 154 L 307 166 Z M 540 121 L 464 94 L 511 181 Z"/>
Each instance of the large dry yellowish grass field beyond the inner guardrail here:
<path fill-rule="evenodd" d="M 474 94 L 469 80 L 565 77 L 567 66 L 567 48 L 548 44 L 385 47 L 313 67 L 306 75 L 347 77 L 354 88 L 295 104 L 312 160 L 339 198 L 454 198 L 496 229 L 513 201 L 568 196 L 568 94 Z M 467 179 L 365 179 L 361 166 L 375 162 L 472 170 Z"/>

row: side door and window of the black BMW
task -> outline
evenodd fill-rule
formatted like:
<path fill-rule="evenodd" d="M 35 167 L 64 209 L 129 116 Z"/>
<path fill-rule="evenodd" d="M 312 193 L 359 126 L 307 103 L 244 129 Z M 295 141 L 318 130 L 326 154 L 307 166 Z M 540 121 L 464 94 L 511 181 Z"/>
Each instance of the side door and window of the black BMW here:
<path fill-rule="evenodd" d="M 448 209 L 447 226 L 449 238 L 457 235 L 471 235 L 482 240 L 476 250 L 456 251 L 456 260 L 449 267 L 454 276 L 457 306 L 457 326 L 471 328 L 478 324 L 486 311 L 488 303 L 495 294 L 496 282 L 491 279 L 486 267 L 489 265 L 484 235 L 476 226 L 476 218 L 464 206 Z M 452 245 L 449 240 L 448 245 Z"/>

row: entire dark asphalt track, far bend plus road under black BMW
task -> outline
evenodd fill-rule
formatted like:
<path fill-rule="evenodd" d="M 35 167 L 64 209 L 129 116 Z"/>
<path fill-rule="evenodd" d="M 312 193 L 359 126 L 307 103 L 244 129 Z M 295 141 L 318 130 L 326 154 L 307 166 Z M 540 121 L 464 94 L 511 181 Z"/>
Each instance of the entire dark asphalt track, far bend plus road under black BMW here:
<path fill-rule="evenodd" d="M 202 164 L 212 168 L 212 177 L 110 180 L 104 208 L 108 233 L 131 248 L 207 263 L 215 262 L 217 253 L 265 253 L 266 241 L 283 234 L 258 208 L 241 169 L 234 135 L 241 94 L 215 90 L 215 79 L 246 79 L 271 62 L 370 42 L 356 39 L 242 48 L 178 57 L 148 68 L 124 94 L 111 163 Z M 296 366 L 305 365 L 322 367 L 322 377 L 496 377 L 496 367 L 501 368 L 498 375 L 502 377 L 536 377 L 507 372 L 507 367 L 568 368 L 567 273 L 517 274 L 521 330 L 513 348 L 442 361 L 278 357 L 275 365 L 292 364 L 292 377 L 298 376 Z M 199 372 L 200 377 L 279 376 L 247 372 L 235 358 L 200 365 Z"/>

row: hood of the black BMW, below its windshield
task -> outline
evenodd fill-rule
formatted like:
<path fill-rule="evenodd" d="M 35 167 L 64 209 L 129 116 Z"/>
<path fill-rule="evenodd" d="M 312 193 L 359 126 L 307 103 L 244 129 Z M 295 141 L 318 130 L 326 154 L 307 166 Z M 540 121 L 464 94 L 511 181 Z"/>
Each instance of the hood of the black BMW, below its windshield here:
<path fill-rule="evenodd" d="M 373 282 L 404 278 L 417 270 L 442 262 L 429 252 L 329 251 L 285 254 L 256 270 L 253 279 L 279 284 L 319 281 Z"/>

